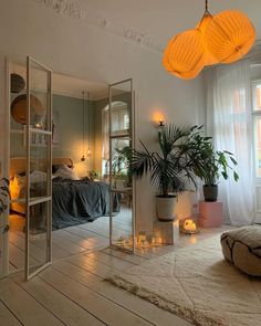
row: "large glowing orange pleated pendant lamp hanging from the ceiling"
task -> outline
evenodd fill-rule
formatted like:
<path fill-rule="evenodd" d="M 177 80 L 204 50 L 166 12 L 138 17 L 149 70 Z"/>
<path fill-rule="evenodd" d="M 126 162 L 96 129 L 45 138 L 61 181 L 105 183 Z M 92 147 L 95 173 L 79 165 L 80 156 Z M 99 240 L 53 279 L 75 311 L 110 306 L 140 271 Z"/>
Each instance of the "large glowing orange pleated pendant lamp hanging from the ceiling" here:
<path fill-rule="evenodd" d="M 246 14 L 229 10 L 212 17 L 206 0 L 199 24 L 168 42 L 163 65 L 180 78 L 195 78 L 206 65 L 240 60 L 250 51 L 254 40 L 254 28 Z"/>

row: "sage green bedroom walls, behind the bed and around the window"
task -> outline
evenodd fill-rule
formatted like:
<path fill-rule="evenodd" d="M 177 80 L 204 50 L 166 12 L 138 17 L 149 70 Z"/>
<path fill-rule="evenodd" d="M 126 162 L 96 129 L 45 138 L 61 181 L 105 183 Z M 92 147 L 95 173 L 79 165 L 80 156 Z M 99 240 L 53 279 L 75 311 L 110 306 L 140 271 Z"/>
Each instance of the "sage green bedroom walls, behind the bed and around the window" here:
<path fill-rule="evenodd" d="M 129 103 L 129 94 L 124 93 L 113 97 L 115 102 Z M 74 161 L 80 176 L 86 176 L 88 170 L 102 172 L 102 111 L 108 105 L 108 99 L 85 101 L 85 157 L 83 155 L 83 102 L 81 98 L 53 95 L 53 120 L 58 132 L 54 137 L 53 157 L 70 157 Z M 11 128 L 21 129 L 22 126 L 11 118 Z M 90 137 L 88 137 L 90 135 Z M 88 139 L 90 138 L 90 139 Z M 58 141 L 55 141 L 58 140 Z M 88 140 L 91 157 L 87 157 Z M 25 157 L 23 134 L 11 134 L 11 157 Z"/>

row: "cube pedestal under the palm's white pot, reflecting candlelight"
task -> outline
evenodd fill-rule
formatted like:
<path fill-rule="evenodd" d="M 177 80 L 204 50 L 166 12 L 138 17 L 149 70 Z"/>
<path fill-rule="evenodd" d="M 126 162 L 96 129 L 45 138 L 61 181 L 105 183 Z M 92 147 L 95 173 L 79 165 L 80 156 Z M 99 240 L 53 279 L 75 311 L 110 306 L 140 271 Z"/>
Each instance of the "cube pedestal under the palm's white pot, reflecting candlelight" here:
<path fill-rule="evenodd" d="M 155 221 L 154 236 L 158 244 L 174 244 L 179 239 L 179 220 L 161 222 Z"/>

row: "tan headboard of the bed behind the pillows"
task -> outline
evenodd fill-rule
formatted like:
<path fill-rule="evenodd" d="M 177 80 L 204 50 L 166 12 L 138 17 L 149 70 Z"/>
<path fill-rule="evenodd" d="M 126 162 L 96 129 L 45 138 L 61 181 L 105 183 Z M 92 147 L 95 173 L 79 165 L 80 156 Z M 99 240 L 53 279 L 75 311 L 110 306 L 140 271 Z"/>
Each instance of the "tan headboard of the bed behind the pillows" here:
<path fill-rule="evenodd" d="M 73 167 L 73 160 L 69 157 L 53 157 L 53 165 L 66 165 Z M 44 159 L 39 160 L 38 169 L 44 171 Z M 32 164 L 33 168 L 33 164 Z M 13 178 L 15 173 L 23 173 L 27 170 L 27 158 L 25 157 L 12 157 L 10 158 L 10 179 Z"/>

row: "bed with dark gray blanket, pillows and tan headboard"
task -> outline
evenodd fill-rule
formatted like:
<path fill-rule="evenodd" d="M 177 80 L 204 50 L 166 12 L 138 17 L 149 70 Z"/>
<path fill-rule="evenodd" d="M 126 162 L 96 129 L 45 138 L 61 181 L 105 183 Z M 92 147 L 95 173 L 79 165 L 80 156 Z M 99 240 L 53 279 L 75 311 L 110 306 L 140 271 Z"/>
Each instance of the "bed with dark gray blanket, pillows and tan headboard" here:
<path fill-rule="evenodd" d="M 63 173 L 59 170 L 63 169 Z M 43 172 L 44 164 L 38 165 L 31 176 L 31 196 L 44 196 L 46 175 Z M 25 159 L 12 158 L 10 160 L 10 192 L 11 210 L 22 215 L 25 213 Z M 52 227 L 53 230 L 77 225 L 94 221 L 109 213 L 109 186 L 101 181 L 91 181 L 87 178 L 79 179 L 73 172 L 73 161 L 70 158 L 53 159 L 52 179 Z M 67 177 L 67 175 L 70 178 Z M 113 211 L 119 211 L 119 197 L 113 199 Z M 41 224 L 44 215 L 43 206 L 30 211 L 35 228 Z"/>

